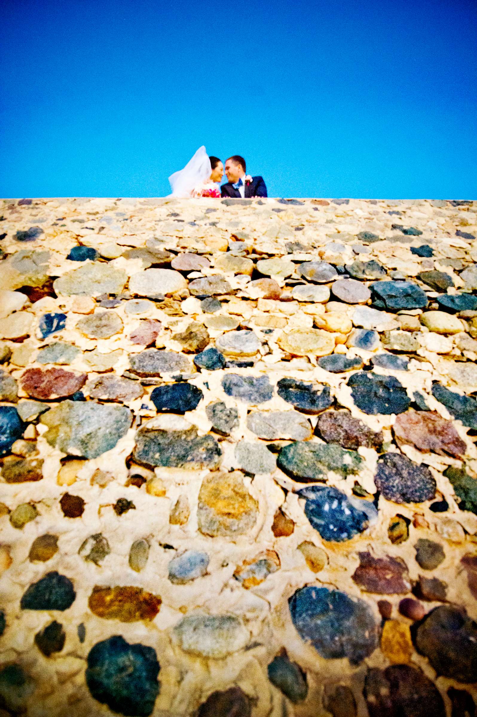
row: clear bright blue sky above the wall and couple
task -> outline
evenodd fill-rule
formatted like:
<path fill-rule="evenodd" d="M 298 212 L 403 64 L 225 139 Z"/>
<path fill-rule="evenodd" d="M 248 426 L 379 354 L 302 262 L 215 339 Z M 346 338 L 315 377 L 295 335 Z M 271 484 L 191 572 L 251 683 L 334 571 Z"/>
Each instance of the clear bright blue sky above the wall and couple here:
<path fill-rule="evenodd" d="M 204 144 L 270 196 L 477 199 L 475 0 L 6 0 L 0 196 L 164 196 Z"/>

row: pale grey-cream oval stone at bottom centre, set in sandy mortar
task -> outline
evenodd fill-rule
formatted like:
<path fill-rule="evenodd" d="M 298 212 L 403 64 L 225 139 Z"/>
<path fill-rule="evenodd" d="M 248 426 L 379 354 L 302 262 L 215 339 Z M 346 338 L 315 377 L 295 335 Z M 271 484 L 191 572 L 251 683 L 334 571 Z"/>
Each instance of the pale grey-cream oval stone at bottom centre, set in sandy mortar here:
<path fill-rule="evenodd" d="M 248 630 L 235 615 L 186 615 L 174 627 L 174 635 L 184 652 L 212 660 L 242 650 L 249 640 Z"/>

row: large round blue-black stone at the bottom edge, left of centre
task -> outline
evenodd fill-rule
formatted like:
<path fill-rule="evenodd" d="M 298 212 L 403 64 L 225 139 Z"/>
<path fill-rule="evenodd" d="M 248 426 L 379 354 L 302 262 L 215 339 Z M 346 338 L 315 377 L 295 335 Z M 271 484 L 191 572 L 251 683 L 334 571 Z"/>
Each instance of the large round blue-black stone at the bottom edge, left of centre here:
<path fill-rule="evenodd" d="M 113 635 L 91 648 L 85 679 L 91 696 L 113 712 L 148 717 L 159 694 L 159 670 L 154 647 Z"/>

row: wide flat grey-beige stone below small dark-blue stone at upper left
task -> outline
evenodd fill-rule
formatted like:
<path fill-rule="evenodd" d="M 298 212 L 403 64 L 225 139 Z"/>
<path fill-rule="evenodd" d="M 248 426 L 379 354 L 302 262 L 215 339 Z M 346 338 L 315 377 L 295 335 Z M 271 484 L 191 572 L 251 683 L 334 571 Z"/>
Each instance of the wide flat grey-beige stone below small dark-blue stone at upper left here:
<path fill-rule="evenodd" d="M 128 275 L 123 269 L 103 263 L 93 262 L 66 272 L 55 279 L 53 288 L 62 296 L 100 296 L 101 294 L 120 294 Z"/>

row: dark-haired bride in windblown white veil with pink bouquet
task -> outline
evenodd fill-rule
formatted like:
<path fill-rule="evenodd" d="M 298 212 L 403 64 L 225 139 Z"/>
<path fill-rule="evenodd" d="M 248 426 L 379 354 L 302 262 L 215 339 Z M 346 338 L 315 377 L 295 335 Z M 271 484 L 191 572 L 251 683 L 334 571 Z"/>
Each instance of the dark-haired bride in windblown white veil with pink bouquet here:
<path fill-rule="evenodd" d="M 175 197 L 220 196 L 220 180 L 224 166 L 218 157 L 209 157 L 205 147 L 199 147 L 184 169 L 169 177 Z"/>

